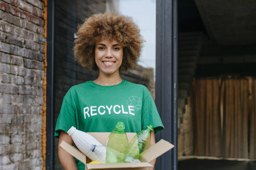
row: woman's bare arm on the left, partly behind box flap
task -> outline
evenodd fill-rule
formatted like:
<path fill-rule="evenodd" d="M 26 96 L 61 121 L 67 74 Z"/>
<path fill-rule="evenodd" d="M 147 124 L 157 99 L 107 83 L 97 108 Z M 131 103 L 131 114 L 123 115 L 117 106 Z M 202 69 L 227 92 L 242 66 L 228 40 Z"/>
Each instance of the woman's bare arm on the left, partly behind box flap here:
<path fill-rule="evenodd" d="M 66 132 L 61 131 L 59 135 L 59 144 L 58 144 L 58 155 L 61 165 L 65 170 L 78 170 L 78 167 L 75 164 L 74 157 L 71 154 L 62 149 L 59 145 L 62 140 L 65 140 L 68 144 L 73 145 L 73 140 Z"/>

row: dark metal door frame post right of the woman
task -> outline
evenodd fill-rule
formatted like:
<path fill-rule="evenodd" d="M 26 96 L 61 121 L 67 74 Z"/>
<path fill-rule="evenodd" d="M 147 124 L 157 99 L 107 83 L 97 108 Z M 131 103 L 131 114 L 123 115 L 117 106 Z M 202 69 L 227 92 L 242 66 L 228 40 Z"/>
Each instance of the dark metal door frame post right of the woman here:
<path fill-rule="evenodd" d="M 156 105 L 165 129 L 159 140 L 175 147 L 157 159 L 156 169 L 177 169 L 177 0 L 157 3 L 156 21 Z"/>

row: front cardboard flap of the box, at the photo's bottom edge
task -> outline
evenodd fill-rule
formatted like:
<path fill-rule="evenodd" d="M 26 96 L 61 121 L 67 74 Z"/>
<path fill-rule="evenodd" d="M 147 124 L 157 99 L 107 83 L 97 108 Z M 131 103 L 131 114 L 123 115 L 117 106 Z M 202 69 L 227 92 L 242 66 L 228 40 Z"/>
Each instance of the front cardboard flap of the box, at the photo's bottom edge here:
<path fill-rule="evenodd" d="M 123 168 L 141 168 L 141 167 L 153 167 L 147 162 L 142 163 L 99 163 L 99 164 L 87 164 L 87 169 L 123 169 Z"/>

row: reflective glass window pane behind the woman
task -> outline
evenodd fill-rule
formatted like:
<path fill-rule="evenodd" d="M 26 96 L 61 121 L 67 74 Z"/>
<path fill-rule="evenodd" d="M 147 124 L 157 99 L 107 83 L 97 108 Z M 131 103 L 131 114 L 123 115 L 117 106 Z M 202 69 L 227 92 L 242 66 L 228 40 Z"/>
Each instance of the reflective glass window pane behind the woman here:
<path fill-rule="evenodd" d="M 133 17 L 146 40 L 138 65 L 121 77 L 144 84 L 155 99 L 156 63 L 156 0 L 62 0 L 55 1 L 54 39 L 54 104 L 55 122 L 66 92 L 75 84 L 94 80 L 98 72 L 74 62 L 73 47 L 78 24 L 94 13 L 120 12 Z M 58 159 L 58 139 L 55 138 L 55 169 L 62 169 Z"/>

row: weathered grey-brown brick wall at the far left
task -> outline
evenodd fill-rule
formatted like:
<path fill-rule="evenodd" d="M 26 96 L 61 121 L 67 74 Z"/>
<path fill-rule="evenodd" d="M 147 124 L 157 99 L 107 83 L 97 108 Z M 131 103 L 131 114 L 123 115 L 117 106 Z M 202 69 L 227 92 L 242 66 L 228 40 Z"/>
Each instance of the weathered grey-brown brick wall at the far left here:
<path fill-rule="evenodd" d="M 0 1 L 0 169 L 42 169 L 44 4 Z"/>

